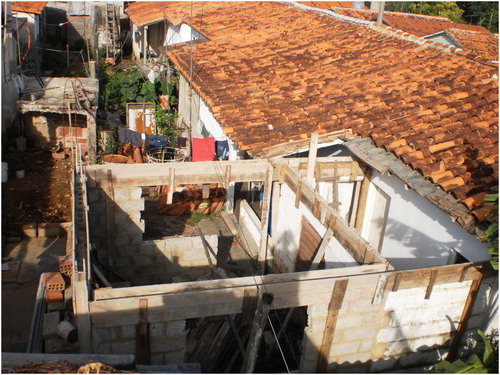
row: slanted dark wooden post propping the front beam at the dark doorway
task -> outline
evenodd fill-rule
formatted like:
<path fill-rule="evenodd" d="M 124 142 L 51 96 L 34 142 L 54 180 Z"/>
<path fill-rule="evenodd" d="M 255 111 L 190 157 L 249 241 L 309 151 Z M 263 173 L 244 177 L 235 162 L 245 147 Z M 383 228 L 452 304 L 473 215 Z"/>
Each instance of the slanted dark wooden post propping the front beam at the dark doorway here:
<path fill-rule="evenodd" d="M 267 317 L 271 311 L 271 304 L 273 303 L 273 295 L 270 293 L 259 293 L 259 301 L 257 303 L 257 310 L 252 323 L 252 330 L 250 331 L 250 339 L 247 346 L 247 352 L 241 367 L 242 373 L 250 374 L 255 368 L 257 354 L 259 353 L 260 342 L 264 328 L 266 327 Z"/>

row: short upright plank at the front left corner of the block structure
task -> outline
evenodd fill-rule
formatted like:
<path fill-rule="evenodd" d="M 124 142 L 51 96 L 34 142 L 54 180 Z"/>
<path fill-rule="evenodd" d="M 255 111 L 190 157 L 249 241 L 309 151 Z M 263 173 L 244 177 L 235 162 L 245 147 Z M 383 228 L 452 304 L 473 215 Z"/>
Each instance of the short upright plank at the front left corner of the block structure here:
<path fill-rule="evenodd" d="M 73 311 L 78 327 L 78 349 L 80 354 L 92 353 L 90 341 L 89 290 L 84 272 L 73 274 Z"/>

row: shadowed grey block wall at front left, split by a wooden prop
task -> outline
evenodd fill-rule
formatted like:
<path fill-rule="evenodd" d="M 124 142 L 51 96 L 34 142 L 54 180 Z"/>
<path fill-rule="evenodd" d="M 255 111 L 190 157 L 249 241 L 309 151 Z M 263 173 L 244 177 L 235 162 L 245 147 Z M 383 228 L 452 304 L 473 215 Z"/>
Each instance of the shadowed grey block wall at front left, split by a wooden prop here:
<path fill-rule="evenodd" d="M 179 364 L 186 353 L 184 320 L 148 324 L 151 365 Z M 92 328 L 92 350 L 99 354 L 134 354 L 137 351 L 137 326 Z"/>

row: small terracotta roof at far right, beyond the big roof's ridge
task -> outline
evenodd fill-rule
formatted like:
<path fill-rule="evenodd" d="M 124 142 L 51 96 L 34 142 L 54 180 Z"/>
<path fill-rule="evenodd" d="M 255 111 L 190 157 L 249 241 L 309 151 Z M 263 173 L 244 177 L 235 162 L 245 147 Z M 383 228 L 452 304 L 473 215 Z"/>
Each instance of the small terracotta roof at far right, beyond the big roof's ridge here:
<path fill-rule="evenodd" d="M 478 56 L 486 57 L 491 61 L 498 61 L 498 34 L 472 30 L 450 28 L 445 30 L 464 50 Z"/>

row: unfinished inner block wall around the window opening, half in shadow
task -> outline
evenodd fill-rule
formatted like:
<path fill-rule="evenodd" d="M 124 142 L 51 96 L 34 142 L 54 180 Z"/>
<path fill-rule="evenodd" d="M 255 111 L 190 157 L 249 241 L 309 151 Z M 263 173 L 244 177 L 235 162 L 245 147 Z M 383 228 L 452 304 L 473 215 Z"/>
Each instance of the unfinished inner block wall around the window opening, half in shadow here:
<path fill-rule="evenodd" d="M 104 183 L 107 183 L 106 181 Z M 201 238 L 142 241 L 141 187 L 89 188 L 90 242 L 99 261 L 134 285 L 196 280 L 210 271 Z M 217 236 L 206 236 L 214 252 Z M 216 256 L 211 255 L 216 264 Z"/>

